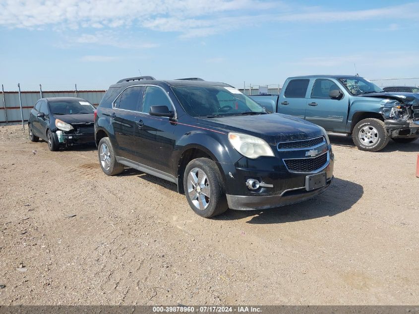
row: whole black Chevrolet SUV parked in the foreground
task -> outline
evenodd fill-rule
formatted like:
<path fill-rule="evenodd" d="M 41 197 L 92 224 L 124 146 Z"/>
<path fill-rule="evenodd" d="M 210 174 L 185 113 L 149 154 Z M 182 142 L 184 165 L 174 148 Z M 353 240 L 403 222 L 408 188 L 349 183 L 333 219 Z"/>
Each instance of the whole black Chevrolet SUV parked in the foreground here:
<path fill-rule="evenodd" d="M 111 85 L 95 112 L 95 139 L 105 174 L 128 166 L 174 182 L 203 217 L 300 202 L 333 177 L 322 127 L 199 78 Z"/>

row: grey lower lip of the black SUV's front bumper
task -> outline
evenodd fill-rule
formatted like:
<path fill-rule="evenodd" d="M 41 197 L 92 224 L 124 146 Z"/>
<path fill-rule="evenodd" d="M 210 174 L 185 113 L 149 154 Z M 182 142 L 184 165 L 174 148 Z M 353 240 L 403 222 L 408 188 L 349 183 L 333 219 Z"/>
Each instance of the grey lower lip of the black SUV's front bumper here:
<path fill-rule="evenodd" d="M 332 179 L 329 179 L 327 185 L 323 188 L 317 188 L 312 191 L 306 191 L 305 187 L 285 190 L 281 195 L 270 196 L 239 196 L 239 195 L 226 195 L 227 202 L 230 209 L 236 210 L 254 210 L 254 209 L 267 209 L 291 205 L 302 202 L 304 200 L 313 198 L 323 193 L 329 188 Z"/>

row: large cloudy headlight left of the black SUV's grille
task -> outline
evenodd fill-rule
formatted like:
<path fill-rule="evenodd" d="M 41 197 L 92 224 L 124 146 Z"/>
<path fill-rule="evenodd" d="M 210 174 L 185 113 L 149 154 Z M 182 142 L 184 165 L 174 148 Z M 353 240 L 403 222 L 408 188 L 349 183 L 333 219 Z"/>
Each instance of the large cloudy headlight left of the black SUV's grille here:
<path fill-rule="evenodd" d="M 247 158 L 274 156 L 271 147 L 263 139 L 241 133 L 229 133 L 229 141 L 233 147 Z"/>

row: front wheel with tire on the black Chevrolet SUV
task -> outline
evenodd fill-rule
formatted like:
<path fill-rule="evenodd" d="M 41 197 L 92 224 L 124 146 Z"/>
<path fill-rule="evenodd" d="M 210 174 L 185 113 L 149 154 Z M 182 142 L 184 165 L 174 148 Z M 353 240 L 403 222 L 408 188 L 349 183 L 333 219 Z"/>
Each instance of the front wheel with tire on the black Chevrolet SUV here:
<path fill-rule="evenodd" d="M 199 216 L 210 218 L 228 209 L 223 178 L 211 159 L 190 161 L 183 175 L 183 186 L 189 206 Z"/>

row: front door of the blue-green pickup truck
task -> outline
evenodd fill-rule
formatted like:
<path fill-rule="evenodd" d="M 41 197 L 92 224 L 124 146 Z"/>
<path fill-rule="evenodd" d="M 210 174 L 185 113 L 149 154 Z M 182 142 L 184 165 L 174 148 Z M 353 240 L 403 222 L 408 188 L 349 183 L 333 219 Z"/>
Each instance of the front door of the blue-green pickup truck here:
<path fill-rule="evenodd" d="M 323 126 L 327 131 L 345 132 L 348 119 L 349 95 L 335 79 L 315 78 L 310 83 L 305 120 Z M 329 92 L 340 90 L 341 96 L 332 98 Z"/>

